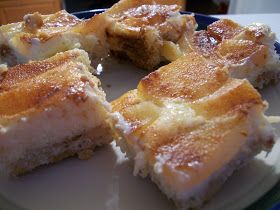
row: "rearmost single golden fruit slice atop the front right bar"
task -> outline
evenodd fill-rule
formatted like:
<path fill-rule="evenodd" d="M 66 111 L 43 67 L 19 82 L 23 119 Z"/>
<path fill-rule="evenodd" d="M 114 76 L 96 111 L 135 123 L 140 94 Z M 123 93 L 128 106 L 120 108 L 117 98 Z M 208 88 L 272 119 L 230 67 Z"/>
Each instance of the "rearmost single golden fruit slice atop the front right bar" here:
<path fill-rule="evenodd" d="M 138 89 L 147 97 L 193 101 L 211 94 L 227 79 L 223 69 L 191 53 L 143 78 Z"/>

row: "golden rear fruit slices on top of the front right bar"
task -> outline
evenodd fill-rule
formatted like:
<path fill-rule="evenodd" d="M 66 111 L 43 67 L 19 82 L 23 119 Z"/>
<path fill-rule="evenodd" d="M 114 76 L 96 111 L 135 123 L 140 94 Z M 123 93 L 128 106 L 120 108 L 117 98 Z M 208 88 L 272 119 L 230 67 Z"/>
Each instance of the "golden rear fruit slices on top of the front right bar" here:
<path fill-rule="evenodd" d="M 139 82 L 137 90 L 129 91 L 112 105 L 129 122 L 142 124 L 145 122 L 142 118 L 152 112 L 143 109 L 142 115 L 137 115 L 144 102 L 157 108 L 164 107 L 164 103 L 183 104 L 194 109 L 196 114 L 211 118 L 234 112 L 246 115 L 253 107 L 264 108 L 260 94 L 248 81 L 229 78 L 227 69 L 196 53 L 150 73 Z M 135 113 L 134 107 L 137 107 Z M 138 129 L 137 126 L 133 128 Z M 145 126 L 145 129 L 149 128 Z"/>

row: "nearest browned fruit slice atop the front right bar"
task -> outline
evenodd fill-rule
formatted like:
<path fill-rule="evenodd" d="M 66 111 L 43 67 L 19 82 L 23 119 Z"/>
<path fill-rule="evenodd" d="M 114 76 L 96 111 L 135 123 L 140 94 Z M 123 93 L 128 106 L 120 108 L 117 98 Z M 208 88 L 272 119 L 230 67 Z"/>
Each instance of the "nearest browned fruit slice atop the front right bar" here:
<path fill-rule="evenodd" d="M 156 157 L 168 157 L 163 166 L 163 176 L 177 192 L 206 180 L 226 165 L 245 143 L 246 137 L 238 130 L 246 125 L 247 116 L 237 112 L 231 117 L 223 117 L 221 121 L 208 122 L 189 131 L 182 130 L 173 137 L 157 138 L 150 145 L 149 164 L 154 165 L 158 161 Z M 236 138 L 236 142 L 231 138 Z M 185 173 L 191 182 L 181 182 L 176 171 Z"/>

